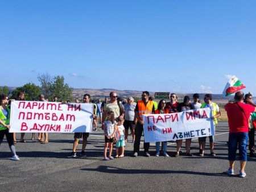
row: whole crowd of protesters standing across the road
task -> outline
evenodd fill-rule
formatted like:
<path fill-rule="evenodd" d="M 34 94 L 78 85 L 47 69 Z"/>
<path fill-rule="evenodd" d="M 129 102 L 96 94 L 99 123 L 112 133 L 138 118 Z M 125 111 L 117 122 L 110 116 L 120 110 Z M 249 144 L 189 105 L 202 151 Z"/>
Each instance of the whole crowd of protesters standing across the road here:
<path fill-rule="evenodd" d="M 189 98 L 186 95 L 183 98 L 183 102 L 177 101 L 177 95 L 172 93 L 170 95 L 170 101 L 162 99 L 157 103 L 154 98 L 150 97 L 148 91 L 143 91 L 142 99 L 137 103 L 133 97 L 127 98 L 127 101 L 123 99 L 120 101 L 117 93 L 111 92 L 110 100 L 105 98 L 104 102 L 98 99 L 93 103 L 93 127 L 94 131 L 97 131 L 97 123 L 101 123 L 101 129 L 105 134 L 105 145 L 103 149 L 104 160 L 112 160 L 115 158 L 122 158 L 125 156 L 125 144 L 128 142 L 129 130 L 131 132 L 131 142 L 134 145 L 133 156 L 139 156 L 139 146 L 141 143 L 141 136 L 143 133 L 143 115 L 146 114 L 174 114 L 176 112 L 183 112 L 188 110 L 198 110 L 200 108 L 210 108 L 211 119 L 213 121 L 214 130 L 218 123 L 218 117 L 220 117 L 220 108 L 212 101 L 211 94 L 204 95 L 204 102 L 200 101 L 199 94 L 193 94 L 193 98 Z M 16 100 L 23 101 L 24 93 L 19 92 Z M 0 144 L 3 137 L 6 136 L 10 150 L 13 153 L 13 160 L 19 160 L 19 157 L 15 152 L 16 136 L 15 133 L 9 132 L 10 129 L 10 105 L 11 102 L 7 95 L 0 95 L 1 110 L 0 110 Z M 47 102 L 44 95 L 39 95 L 38 101 Z M 57 102 L 55 97 L 52 102 Z M 61 101 L 64 102 L 64 101 Z M 67 101 L 69 103 L 69 101 Z M 79 103 L 79 99 L 75 99 L 76 103 Z M 90 103 L 90 95 L 85 94 L 83 97 L 83 103 Z M 247 143 L 249 140 L 249 155 L 255 157 L 254 154 L 254 132 L 255 123 L 252 118 L 255 116 L 256 105 L 252 101 L 252 95 L 244 95 L 242 91 L 238 91 L 234 96 L 234 102 L 226 104 L 225 110 L 228 115 L 229 123 L 229 140 L 228 140 L 228 160 L 229 169 L 227 173 L 229 175 L 234 174 L 234 160 L 236 159 L 237 146 L 239 149 L 240 160 L 240 177 L 245 177 L 245 165 L 247 161 Z M 98 121 L 99 120 L 99 121 Z M 24 134 L 20 135 L 20 142 L 26 143 L 24 140 Z M 75 132 L 72 152 L 68 157 L 86 157 L 86 144 L 88 141 L 89 132 Z M 79 139 L 82 138 L 82 150 L 77 155 L 76 149 L 79 144 Z M 35 133 L 32 133 L 32 140 L 35 139 Z M 48 143 L 48 133 L 38 133 L 38 142 L 42 144 Z M 205 144 L 207 136 L 198 138 L 198 155 L 203 157 L 205 155 Z M 115 143 L 115 153 L 113 153 L 113 144 Z M 155 156 L 163 155 L 168 157 L 167 151 L 168 141 L 155 143 Z M 176 153 L 174 157 L 179 157 L 181 154 L 182 139 L 176 140 Z M 214 153 L 214 135 L 209 136 L 210 156 L 216 156 Z M 190 151 L 191 139 L 185 139 L 185 156 L 192 156 Z M 150 143 L 143 143 L 144 156 L 150 157 L 149 148 Z M 114 155 L 113 155 L 114 154 Z M 113 157 L 114 156 L 114 157 Z"/>

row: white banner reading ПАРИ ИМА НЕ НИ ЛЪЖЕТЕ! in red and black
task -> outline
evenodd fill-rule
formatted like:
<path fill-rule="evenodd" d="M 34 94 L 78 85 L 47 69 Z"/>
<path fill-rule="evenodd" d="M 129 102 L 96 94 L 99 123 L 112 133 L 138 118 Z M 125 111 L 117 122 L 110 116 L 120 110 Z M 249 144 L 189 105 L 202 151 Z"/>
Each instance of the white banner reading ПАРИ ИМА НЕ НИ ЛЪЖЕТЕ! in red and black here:
<path fill-rule="evenodd" d="M 175 141 L 214 135 L 210 108 L 174 114 L 143 115 L 145 142 Z"/>

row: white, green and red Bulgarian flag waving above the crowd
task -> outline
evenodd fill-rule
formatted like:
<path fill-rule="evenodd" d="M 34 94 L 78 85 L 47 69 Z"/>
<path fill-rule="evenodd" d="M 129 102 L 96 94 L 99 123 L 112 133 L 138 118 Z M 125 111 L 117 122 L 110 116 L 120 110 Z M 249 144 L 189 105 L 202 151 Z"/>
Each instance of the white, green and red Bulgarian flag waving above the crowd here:
<path fill-rule="evenodd" d="M 245 85 L 242 84 L 240 80 L 236 76 L 231 76 L 229 82 L 226 84 L 223 94 L 225 96 L 236 93 L 237 91 L 245 88 Z"/>

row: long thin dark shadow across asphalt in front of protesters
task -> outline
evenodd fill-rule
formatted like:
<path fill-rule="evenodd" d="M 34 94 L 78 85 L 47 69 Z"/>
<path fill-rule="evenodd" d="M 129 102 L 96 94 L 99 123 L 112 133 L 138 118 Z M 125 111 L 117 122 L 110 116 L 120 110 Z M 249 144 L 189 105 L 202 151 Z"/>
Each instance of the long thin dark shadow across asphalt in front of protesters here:
<path fill-rule="evenodd" d="M 204 172 L 190 172 L 186 170 L 154 170 L 154 169 L 122 169 L 116 168 L 114 166 L 105 166 L 100 165 L 96 169 L 81 169 L 92 172 L 101 172 L 101 173 L 117 173 L 117 174 L 195 174 L 201 176 L 222 176 L 229 177 L 225 172 L 222 173 L 204 173 Z"/>

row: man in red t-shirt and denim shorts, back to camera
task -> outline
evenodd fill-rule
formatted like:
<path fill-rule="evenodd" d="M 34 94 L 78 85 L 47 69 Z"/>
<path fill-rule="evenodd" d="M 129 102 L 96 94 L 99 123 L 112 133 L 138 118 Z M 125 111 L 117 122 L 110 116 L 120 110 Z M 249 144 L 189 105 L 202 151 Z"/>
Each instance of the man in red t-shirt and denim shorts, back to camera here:
<path fill-rule="evenodd" d="M 247 149 L 246 144 L 248 142 L 248 129 L 249 129 L 249 117 L 251 112 L 256 112 L 256 105 L 247 99 L 243 103 L 244 94 L 242 91 L 238 91 L 234 96 L 234 103 L 228 103 L 225 105 L 225 110 L 228 115 L 229 122 L 229 142 L 228 142 L 228 160 L 229 169 L 226 171 L 229 175 L 234 174 L 234 161 L 236 160 L 237 144 L 239 149 L 240 160 L 240 177 L 245 177 L 245 165 L 247 161 Z"/>

